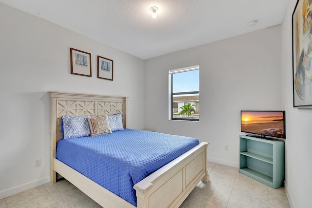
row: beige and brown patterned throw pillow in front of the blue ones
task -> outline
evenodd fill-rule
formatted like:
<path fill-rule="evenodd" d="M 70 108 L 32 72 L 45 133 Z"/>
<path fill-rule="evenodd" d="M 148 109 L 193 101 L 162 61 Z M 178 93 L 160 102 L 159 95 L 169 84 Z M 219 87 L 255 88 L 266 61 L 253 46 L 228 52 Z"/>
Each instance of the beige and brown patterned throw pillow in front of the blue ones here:
<path fill-rule="evenodd" d="M 88 117 L 90 124 L 91 136 L 98 136 L 102 134 L 111 134 L 112 130 L 109 127 L 107 115 L 98 117 Z"/>

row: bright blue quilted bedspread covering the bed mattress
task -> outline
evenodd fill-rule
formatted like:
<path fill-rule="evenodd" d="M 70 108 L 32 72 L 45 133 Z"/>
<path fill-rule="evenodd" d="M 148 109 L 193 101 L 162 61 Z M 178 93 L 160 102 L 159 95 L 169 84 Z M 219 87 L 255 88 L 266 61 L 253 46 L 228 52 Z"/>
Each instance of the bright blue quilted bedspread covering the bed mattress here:
<path fill-rule="evenodd" d="M 133 186 L 198 144 L 190 137 L 124 129 L 96 137 L 62 139 L 56 157 L 137 206 Z"/>

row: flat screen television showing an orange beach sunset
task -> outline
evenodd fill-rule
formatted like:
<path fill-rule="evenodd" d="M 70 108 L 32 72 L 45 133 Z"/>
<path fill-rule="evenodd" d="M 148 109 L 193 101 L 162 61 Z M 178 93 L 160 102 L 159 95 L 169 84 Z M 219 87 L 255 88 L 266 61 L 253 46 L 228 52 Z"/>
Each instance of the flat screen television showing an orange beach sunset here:
<path fill-rule="evenodd" d="M 271 137 L 286 139 L 285 111 L 242 110 L 240 118 L 241 132 L 265 139 Z"/>

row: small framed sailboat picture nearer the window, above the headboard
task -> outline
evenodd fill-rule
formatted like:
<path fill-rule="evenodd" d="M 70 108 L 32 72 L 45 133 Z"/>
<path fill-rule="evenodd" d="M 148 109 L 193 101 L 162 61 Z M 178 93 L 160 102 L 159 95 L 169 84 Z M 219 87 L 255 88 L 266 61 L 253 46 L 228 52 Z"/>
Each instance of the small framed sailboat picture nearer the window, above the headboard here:
<path fill-rule="evenodd" d="M 98 78 L 113 81 L 114 61 L 98 56 Z"/>

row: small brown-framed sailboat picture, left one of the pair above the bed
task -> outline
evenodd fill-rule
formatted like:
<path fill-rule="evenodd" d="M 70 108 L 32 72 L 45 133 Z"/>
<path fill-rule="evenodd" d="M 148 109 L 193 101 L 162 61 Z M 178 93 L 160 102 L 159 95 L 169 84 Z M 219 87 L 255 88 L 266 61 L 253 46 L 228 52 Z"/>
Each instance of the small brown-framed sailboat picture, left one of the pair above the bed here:
<path fill-rule="evenodd" d="M 91 53 L 70 48 L 71 73 L 91 77 Z"/>

